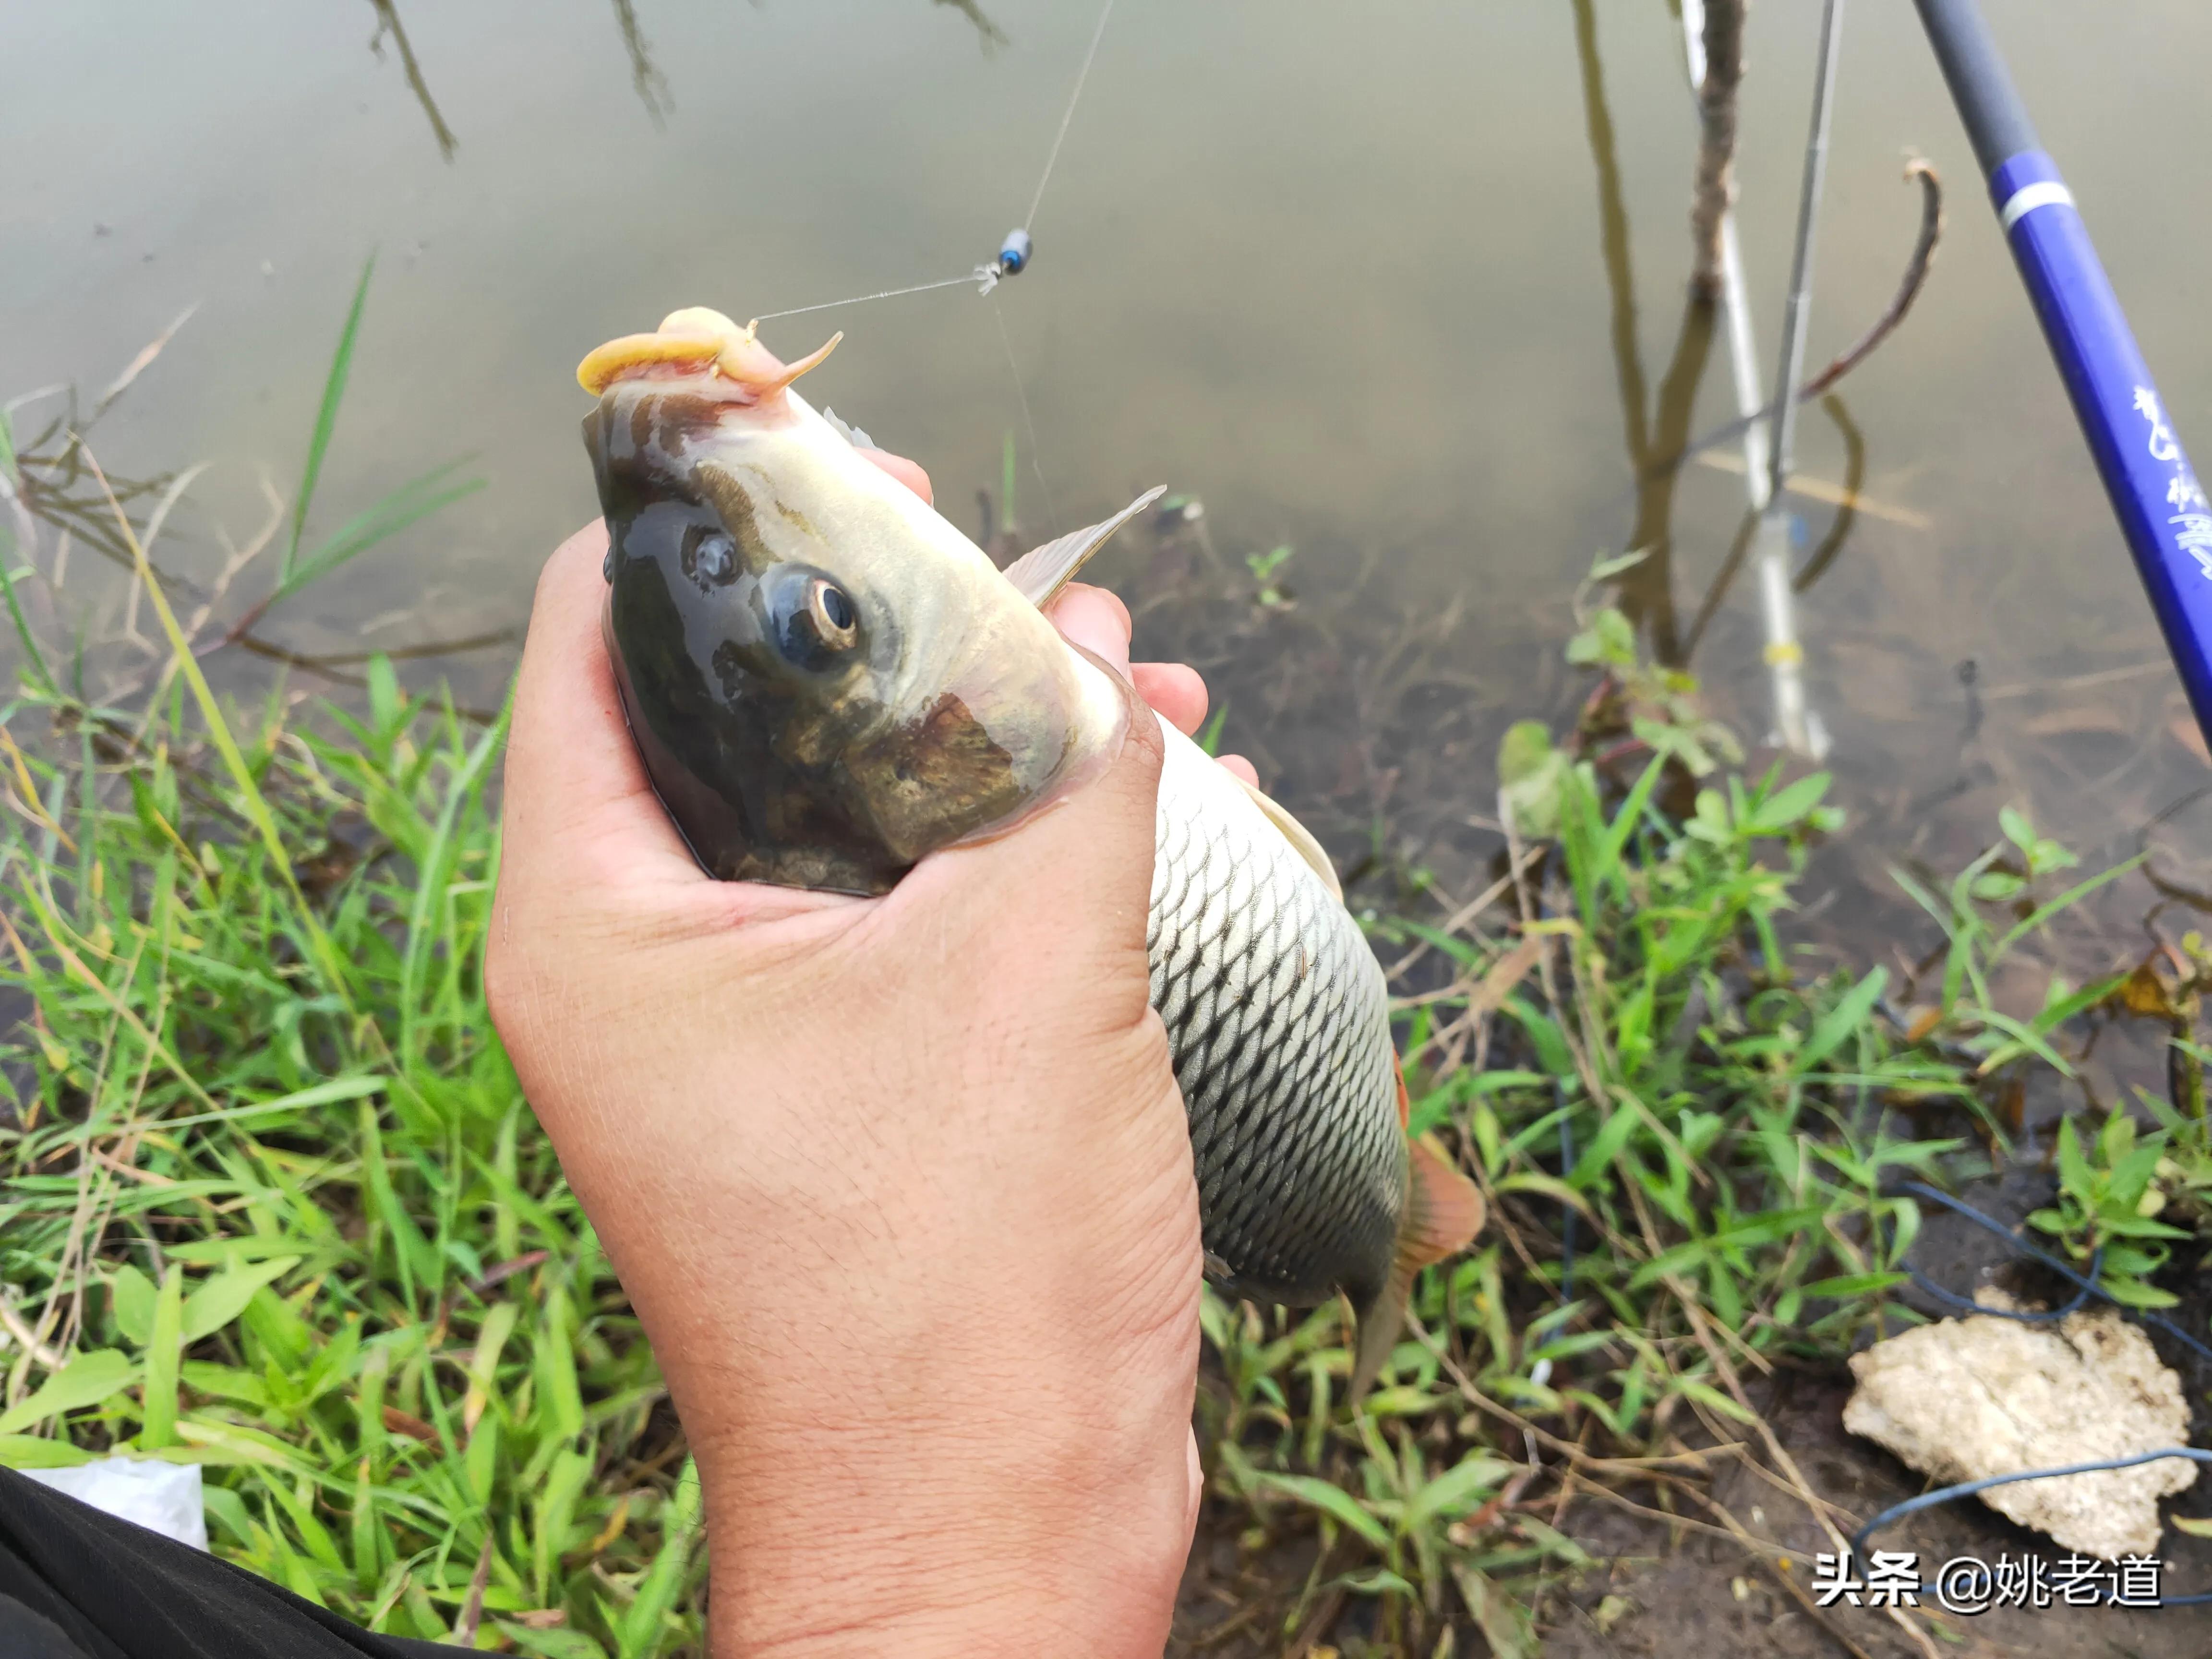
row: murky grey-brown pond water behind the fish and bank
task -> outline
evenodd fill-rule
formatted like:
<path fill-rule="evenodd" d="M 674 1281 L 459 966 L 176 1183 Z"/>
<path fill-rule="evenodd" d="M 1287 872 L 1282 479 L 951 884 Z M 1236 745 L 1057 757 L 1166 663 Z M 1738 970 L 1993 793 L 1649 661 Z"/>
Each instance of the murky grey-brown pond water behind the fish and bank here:
<path fill-rule="evenodd" d="M 2168 407 L 2208 453 L 2212 11 L 1995 11 Z M 1816 13 L 1752 13 L 1741 217 L 1767 349 Z M 577 356 L 675 305 L 745 316 L 987 259 L 1095 18 L 1068 0 L 15 7 L 0 396 L 97 389 L 197 303 L 97 436 L 126 473 L 217 462 L 170 544 L 206 575 L 215 526 L 243 538 L 263 515 L 259 469 L 290 489 L 376 250 L 316 522 L 458 453 L 489 487 L 263 633 L 358 650 L 511 626 L 540 557 L 593 513 Z M 2205 763 L 1907 0 L 1856 0 L 1838 97 L 1814 363 L 1880 310 L 1911 246 L 1902 155 L 1951 181 L 1924 299 L 1843 387 L 1856 436 L 1809 411 L 1801 440 L 1807 478 L 1856 471 L 1867 495 L 1801 619 L 1860 818 L 1827 858 L 1863 953 L 1900 920 L 1869 902 L 1887 860 L 1962 860 L 2004 801 L 2128 854 Z M 799 352 L 847 330 L 807 392 L 922 460 L 962 522 L 1006 434 L 1024 526 L 1086 522 L 1152 482 L 1199 495 L 1219 566 L 1190 538 L 1139 538 L 1108 571 L 1139 608 L 1177 595 L 1139 646 L 1206 661 L 1228 741 L 1334 847 L 1380 823 L 1387 849 L 1458 885 L 1495 845 L 1495 737 L 1573 710 L 1568 595 L 1637 526 L 1632 458 L 1655 445 L 1683 321 L 1690 164 L 1679 33 L 1655 0 L 1121 0 L 1029 274 L 991 301 L 953 288 L 768 338 Z M 1690 427 L 1730 414 L 1714 343 Z M 1809 549 L 1832 509 L 1801 507 Z M 1683 628 L 1739 513 L 1739 478 L 1683 471 Z M 1276 544 L 1296 549 L 1287 615 L 1194 619 L 1192 586 L 1170 586 Z M 1694 666 L 1750 739 L 1767 726 L 1759 644 L 1743 580 Z M 504 659 L 440 670 L 489 697 Z"/>

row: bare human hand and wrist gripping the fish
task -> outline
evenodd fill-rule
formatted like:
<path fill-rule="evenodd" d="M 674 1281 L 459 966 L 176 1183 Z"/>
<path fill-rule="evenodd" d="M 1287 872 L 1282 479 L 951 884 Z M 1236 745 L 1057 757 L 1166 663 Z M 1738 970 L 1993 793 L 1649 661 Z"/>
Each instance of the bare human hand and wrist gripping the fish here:
<path fill-rule="evenodd" d="M 699 1460 L 714 1652 L 1152 1659 L 1201 1276 L 1144 951 L 1159 741 L 883 898 L 714 883 L 624 726 L 604 546 L 538 588 L 484 969 Z M 1110 595 L 1055 622 L 1126 668 Z M 1203 719 L 1188 668 L 1135 684 Z"/>

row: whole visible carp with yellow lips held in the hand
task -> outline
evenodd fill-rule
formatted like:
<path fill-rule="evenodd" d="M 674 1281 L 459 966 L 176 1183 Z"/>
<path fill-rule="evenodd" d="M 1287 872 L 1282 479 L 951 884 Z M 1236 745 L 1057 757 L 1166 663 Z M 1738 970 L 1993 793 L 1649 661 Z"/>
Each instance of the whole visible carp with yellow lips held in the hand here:
<path fill-rule="evenodd" d="M 872 465 L 783 363 L 708 307 L 591 352 L 604 637 L 630 734 L 721 880 L 885 894 L 1006 834 L 1157 719 L 1044 606 L 1130 518 L 1000 571 Z M 1413 1274 L 1484 1223 L 1413 1137 L 1383 969 L 1323 847 L 1168 721 L 1146 956 L 1190 1121 L 1206 1274 L 1290 1307 L 1345 1296 L 1354 1398 Z"/>

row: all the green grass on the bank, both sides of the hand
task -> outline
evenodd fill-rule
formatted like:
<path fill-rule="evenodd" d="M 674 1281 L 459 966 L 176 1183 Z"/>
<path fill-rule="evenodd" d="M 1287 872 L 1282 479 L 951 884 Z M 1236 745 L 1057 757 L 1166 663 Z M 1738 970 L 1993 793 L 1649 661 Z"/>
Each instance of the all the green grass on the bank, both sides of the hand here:
<path fill-rule="evenodd" d="M 358 294 L 303 502 L 356 332 Z M 414 504 L 369 509 L 369 540 Z M 332 568 L 296 553 L 305 522 L 294 577 Z M 0 1462 L 199 1462 L 221 1555 L 380 1630 L 697 1652 L 697 1482 L 484 1009 L 502 723 L 383 659 L 345 706 L 226 708 L 155 617 L 168 672 L 137 703 L 88 706 L 33 653 L 0 708 L 0 982 L 29 1009 L 0 1046 Z M 2177 1088 L 2141 1135 L 2062 1144 L 2048 1230 L 2152 1301 L 2170 1234 L 2212 1230 L 2201 940 L 2177 978 L 2053 980 L 2002 1013 L 1995 967 L 2117 874 L 2059 887 L 2068 856 L 2011 814 L 1958 880 L 1900 876 L 1947 940 L 1916 1009 L 1885 969 L 1809 971 L 1790 922 L 1840 832 L 1827 781 L 1725 772 L 1679 677 L 1604 613 L 1586 637 L 1661 759 L 1601 770 L 1617 732 L 1517 728 L 1504 783 L 1542 860 L 1473 929 L 1376 925 L 1385 960 L 1442 967 L 1400 1015 L 1416 1128 L 1482 1183 L 1489 1232 L 1422 1276 L 1360 1411 L 1340 1310 L 1203 1310 L 1208 1526 L 1272 1575 L 1232 1615 L 1259 1652 L 1327 1628 L 1343 1652 L 1480 1630 L 1533 1655 L 1531 1608 L 1590 1562 L 1511 1504 L 1566 1464 L 1741 1533 L 1697 1449 L 1796 1480 L 1765 1374 L 1909 1318 L 1889 1290 L 1918 1212 L 1885 1181 L 1986 1168 L 1993 1102 L 2068 1071 L 2084 1022 L 2166 1022 Z M 1363 1606 L 1371 1635 L 1343 1635 Z"/>

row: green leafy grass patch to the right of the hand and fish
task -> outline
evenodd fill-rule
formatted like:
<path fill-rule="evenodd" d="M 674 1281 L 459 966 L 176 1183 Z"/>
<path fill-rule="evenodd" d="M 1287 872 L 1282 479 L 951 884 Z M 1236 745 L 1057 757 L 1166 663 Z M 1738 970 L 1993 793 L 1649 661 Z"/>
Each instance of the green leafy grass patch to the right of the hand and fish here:
<path fill-rule="evenodd" d="M 1340 1400 L 1338 1310 L 1208 1303 L 1201 1442 L 1221 1513 L 1248 1520 L 1241 1559 L 1314 1537 L 1303 1584 L 1243 1608 L 1252 1652 L 1318 1624 L 1347 1655 L 1444 1652 L 1471 1630 L 1502 1659 L 1533 1655 L 1528 1608 L 1590 1562 L 1506 1504 L 1533 1480 L 1562 1495 L 1568 1464 L 1582 1493 L 1641 1486 L 1646 1513 L 1750 1537 L 1701 1449 L 1736 1444 L 1730 1458 L 1803 1489 L 1759 1411 L 1767 1378 L 1836 1367 L 1858 1338 L 1916 1321 L 1889 1292 L 1920 1212 L 1887 1183 L 1989 1172 L 2008 1144 L 2002 1102 L 2031 1068 L 2070 1077 L 2086 1022 L 2170 1024 L 2177 1084 L 2141 1097 L 2143 1135 L 2099 1113 L 2084 1152 L 2068 1119 L 2059 1199 L 2037 1223 L 2081 1261 L 2101 1245 L 2115 1294 L 2137 1305 L 2170 1305 L 2150 1279 L 2172 1281 L 2181 1241 L 2194 1256 L 2212 1237 L 2203 1055 L 2188 1042 L 2212 951 L 2190 936 L 2188 975 L 2148 984 L 2148 967 L 2079 989 L 2053 973 L 2031 1018 L 1989 995 L 2000 962 L 2130 865 L 2062 889 L 2073 856 L 2008 810 L 1940 896 L 1896 872 L 1947 940 L 1913 1009 L 1893 1006 L 1887 969 L 1807 971 L 1790 916 L 1814 843 L 1843 830 L 1829 781 L 1723 774 L 1714 750 L 1730 739 L 1692 684 L 1619 641 L 1619 661 L 1590 648 L 1608 617 L 1568 650 L 1613 672 L 1590 706 L 1615 706 L 1615 730 L 1571 748 L 1542 728 L 1506 734 L 1500 783 L 1551 838 L 1504 900 L 1515 922 L 1376 927 L 1385 960 L 1422 945 L 1451 964 L 1440 991 L 1405 998 L 1413 1126 L 1455 1146 L 1491 1230 L 1422 1276 L 1411 1340 L 1358 1416 Z M 1619 728 L 1657 757 L 1641 774 L 1577 759 L 1619 757 Z M 1692 770 L 1703 783 L 1670 818 L 1657 799 Z M 1374 1635 L 1345 1639 L 1356 1599 L 1378 1604 Z"/>

